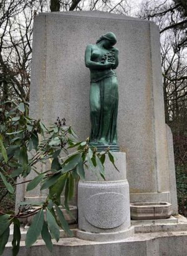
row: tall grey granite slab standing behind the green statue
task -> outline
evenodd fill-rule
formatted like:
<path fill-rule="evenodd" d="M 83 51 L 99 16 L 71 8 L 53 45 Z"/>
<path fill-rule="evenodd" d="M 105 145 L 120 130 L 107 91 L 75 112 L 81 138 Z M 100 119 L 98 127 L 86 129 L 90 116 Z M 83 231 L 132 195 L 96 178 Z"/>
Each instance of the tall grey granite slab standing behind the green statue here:
<path fill-rule="evenodd" d="M 171 202 L 160 38 L 153 22 L 97 11 L 36 16 L 30 114 L 46 125 L 65 117 L 81 140 L 89 136 L 84 52 L 108 31 L 117 36 L 119 50 L 118 144 L 127 153 L 130 200 Z"/>

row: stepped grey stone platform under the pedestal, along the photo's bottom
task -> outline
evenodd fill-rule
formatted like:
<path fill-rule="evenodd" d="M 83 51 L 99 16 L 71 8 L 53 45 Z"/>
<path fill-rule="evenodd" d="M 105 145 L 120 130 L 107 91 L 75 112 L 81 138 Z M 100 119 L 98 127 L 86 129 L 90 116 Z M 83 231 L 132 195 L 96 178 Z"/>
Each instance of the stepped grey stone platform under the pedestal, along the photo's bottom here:
<path fill-rule="evenodd" d="M 187 220 L 180 215 L 175 219 L 178 223 L 171 223 L 169 220 L 160 220 L 160 222 L 156 220 L 156 224 L 153 222 L 147 224 L 143 221 L 137 224 L 132 222 L 135 234 L 128 239 L 115 242 L 93 242 L 76 237 L 68 238 L 62 231 L 59 242 L 54 242 L 52 253 L 46 249 L 42 240 L 37 240 L 30 249 L 26 249 L 22 240 L 18 256 L 186 256 Z M 75 226 L 72 228 L 76 236 L 77 228 Z M 26 229 L 22 230 L 22 234 L 22 239 L 24 239 Z M 3 256 L 11 255 L 12 244 L 9 242 Z"/>

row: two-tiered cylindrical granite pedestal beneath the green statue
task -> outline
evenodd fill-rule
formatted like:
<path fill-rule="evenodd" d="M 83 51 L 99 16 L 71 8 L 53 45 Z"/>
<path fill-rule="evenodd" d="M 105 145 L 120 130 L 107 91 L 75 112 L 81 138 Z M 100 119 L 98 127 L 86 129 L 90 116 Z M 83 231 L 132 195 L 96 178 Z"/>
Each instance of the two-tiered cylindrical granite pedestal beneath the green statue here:
<path fill-rule="evenodd" d="M 125 153 L 113 153 L 115 164 L 105 160 L 105 179 L 88 170 L 78 184 L 79 230 L 77 237 L 93 241 L 113 241 L 133 235 L 130 227 L 129 185 L 126 177 Z"/>

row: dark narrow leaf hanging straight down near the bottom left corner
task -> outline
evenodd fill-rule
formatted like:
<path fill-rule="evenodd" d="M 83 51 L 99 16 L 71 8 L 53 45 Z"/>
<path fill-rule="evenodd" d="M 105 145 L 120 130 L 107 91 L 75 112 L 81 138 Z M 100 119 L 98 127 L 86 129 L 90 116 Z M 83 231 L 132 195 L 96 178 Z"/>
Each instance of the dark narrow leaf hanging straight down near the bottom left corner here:
<path fill-rule="evenodd" d="M 14 233 L 12 240 L 12 256 L 16 256 L 19 252 L 19 244 L 21 240 L 20 223 L 18 219 L 14 219 Z"/>

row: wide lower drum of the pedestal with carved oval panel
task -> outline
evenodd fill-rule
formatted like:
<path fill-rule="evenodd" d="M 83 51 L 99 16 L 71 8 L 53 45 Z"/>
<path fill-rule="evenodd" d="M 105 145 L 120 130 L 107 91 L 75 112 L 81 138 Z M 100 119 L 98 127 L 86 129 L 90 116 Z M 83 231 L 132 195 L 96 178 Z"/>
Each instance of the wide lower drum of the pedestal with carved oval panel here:
<path fill-rule="evenodd" d="M 79 182 L 79 229 L 91 233 L 110 233 L 130 227 L 127 180 Z"/>

